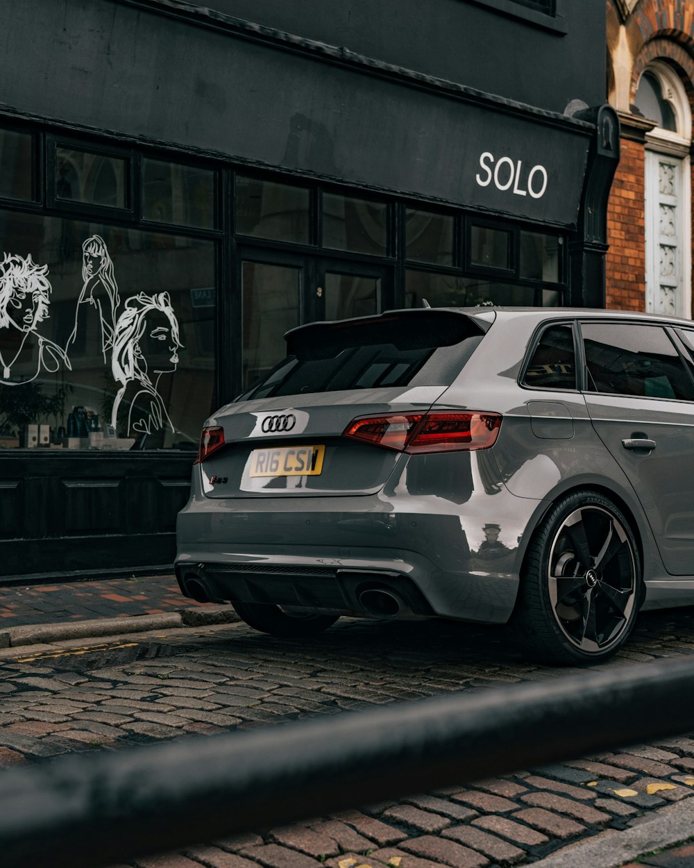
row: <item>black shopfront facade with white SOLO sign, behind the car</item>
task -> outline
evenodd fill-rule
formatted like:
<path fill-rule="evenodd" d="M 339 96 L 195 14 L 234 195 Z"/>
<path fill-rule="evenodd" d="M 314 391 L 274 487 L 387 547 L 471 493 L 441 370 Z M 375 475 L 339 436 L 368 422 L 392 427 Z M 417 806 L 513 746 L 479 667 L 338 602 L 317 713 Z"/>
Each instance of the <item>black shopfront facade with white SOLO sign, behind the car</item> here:
<path fill-rule="evenodd" d="M 619 135 L 571 5 L 6 3 L 1 577 L 167 567 L 201 424 L 295 325 L 604 305 Z"/>

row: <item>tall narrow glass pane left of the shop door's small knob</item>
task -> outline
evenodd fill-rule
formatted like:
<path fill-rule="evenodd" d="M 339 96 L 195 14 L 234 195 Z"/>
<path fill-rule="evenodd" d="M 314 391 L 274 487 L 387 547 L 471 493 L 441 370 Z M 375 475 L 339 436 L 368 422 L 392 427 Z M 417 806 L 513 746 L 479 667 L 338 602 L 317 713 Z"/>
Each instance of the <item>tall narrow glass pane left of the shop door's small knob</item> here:
<path fill-rule="evenodd" d="M 301 272 L 289 266 L 244 262 L 243 388 L 285 358 L 285 332 L 299 324 Z"/>

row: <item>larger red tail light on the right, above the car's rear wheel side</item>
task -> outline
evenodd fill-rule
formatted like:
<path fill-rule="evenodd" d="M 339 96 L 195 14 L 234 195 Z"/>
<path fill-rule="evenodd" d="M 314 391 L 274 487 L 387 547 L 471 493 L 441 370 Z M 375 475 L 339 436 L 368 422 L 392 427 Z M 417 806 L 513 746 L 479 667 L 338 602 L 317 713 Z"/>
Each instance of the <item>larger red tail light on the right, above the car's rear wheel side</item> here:
<path fill-rule="evenodd" d="M 412 455 L 489 449 L 494 446 L 500 428 L 499 413 L 436 410 L 354 419 L 344 430 L 343 437 Z"/>

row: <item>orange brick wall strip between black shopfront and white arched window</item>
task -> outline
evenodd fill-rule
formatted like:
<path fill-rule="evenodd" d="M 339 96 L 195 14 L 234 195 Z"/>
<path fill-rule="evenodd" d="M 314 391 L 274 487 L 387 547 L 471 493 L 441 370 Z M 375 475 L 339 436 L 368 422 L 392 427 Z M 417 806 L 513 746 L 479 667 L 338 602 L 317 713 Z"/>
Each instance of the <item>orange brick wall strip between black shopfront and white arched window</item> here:
<path fill-rule="evenodd" d="M 607 207 L 606 307 L 645 310 L 644 145 L 622 139 Z"/>

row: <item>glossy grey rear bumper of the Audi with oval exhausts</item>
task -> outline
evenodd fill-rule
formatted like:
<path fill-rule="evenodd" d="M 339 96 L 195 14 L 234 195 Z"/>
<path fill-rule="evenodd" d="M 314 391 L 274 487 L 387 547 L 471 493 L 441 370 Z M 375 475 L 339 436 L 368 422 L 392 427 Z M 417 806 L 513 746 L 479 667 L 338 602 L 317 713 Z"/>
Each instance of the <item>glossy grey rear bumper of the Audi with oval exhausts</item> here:
<path fill-rule="evenodd" d="M 176 575 L 185 595 L 503 623 L 518 590 L 521 536 L 540 503 L 502 488 L 463 506 L 383 495 L 248 506 L 193 498 L 180 512 Z M 502 542 L 490 543 L 485 525 L 499 527 Z M 369 590 L 383 595 L 364 596 Z"/>

